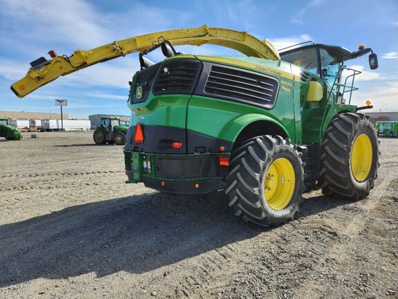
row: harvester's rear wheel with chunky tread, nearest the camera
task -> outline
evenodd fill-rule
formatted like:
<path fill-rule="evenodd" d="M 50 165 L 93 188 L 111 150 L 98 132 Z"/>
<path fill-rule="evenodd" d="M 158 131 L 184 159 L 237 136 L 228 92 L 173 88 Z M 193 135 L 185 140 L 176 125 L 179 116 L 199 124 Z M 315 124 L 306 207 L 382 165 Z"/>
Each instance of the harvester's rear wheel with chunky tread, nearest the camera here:
<path fill-rule="evenodd" d="M 258 136 L 231 154 L 227 176 L 235 215 L 261 226 L 278 226 L 299 211 L 304 163 L 296 145 L 281 136 Z"/>

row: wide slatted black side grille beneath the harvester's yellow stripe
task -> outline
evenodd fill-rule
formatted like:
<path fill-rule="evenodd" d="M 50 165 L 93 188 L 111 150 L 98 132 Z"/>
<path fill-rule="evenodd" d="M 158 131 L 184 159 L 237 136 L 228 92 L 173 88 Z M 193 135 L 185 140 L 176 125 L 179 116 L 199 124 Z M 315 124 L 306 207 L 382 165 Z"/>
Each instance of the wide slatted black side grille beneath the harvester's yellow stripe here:
<path fill-rule="evenodd" d="M 223 66 L 211 66 L 205 93 L 262 107 L 273 107 L 279 82 L 274 78 Z"/>

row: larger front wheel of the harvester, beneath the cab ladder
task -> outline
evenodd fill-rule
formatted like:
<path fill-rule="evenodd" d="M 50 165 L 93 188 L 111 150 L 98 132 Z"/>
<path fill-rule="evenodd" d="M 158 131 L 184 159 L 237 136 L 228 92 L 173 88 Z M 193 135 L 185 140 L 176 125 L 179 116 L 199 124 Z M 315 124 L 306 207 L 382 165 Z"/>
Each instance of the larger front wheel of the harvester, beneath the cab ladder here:
<path fill-rule="evenodd" d="M 350 201 L 368 196 L 377 179 L 379 141 L 368 116 L 338 114 L 323 139 L 319 186 L 325 195 Z"/>

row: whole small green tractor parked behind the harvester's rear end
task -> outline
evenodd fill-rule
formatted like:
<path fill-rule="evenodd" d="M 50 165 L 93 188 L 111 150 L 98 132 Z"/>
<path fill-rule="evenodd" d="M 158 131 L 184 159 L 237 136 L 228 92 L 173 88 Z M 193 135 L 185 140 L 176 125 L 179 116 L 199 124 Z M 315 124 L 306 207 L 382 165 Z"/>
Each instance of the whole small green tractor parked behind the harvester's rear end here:
<path fill-rule="evenodd" d="M 101 118 L 101 125 L 95 129 L 93 139 L 95 144 L 104 145 L 105 143 L 117 145 L 126 144 L 126 134 L 129 124 L 120 118 Z"/>

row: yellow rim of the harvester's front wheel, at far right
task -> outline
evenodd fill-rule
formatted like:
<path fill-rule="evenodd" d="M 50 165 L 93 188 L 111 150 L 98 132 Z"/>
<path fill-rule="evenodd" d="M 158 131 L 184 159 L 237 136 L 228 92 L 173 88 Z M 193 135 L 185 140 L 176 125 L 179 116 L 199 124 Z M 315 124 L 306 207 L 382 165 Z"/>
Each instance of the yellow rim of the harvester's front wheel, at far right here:
<path fill-rule="evenodd" d="M 351 151 L 351 172 L 354 178 L 365 181 L 370 173 L 373 160 L 372 142 L 366 134 L 357 136 Z"/>

